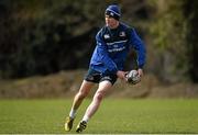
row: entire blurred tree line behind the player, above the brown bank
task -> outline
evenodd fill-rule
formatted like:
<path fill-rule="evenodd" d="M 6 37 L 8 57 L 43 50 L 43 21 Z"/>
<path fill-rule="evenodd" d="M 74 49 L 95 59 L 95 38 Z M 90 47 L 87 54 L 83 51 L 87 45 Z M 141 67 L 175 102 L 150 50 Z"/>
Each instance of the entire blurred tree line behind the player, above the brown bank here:
<path fill-rule="evenodd" d="M 0 78 L 87 68 L 109 3 L 144 38 L 148 72 L 198 81 L 196 0 L 1 0 Z"/>

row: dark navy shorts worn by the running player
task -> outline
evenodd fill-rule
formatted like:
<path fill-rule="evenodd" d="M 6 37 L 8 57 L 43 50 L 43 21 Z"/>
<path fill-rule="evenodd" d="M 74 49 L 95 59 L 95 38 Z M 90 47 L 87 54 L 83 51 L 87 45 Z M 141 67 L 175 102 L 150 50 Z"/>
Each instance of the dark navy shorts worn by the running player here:
<path fill-rule="evenodd" d="M 101 72 L 89 68 L 84 79 L 90 82 L 95 82 L 95 83 L 99 83 L 101 81 L 108 80 L 112 85 L 114 85 L 114 82 L 117 81 L 117 78 L 118 78 L 117 75 L 113 75 L 113 74 L 102 75 Z"/>

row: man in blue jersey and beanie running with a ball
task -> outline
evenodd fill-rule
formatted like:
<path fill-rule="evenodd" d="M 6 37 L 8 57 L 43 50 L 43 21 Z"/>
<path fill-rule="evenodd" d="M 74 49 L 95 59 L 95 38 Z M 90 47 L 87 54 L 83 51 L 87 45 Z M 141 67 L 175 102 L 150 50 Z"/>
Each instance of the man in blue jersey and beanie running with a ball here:
<path fill-rule="evenodd" d="M 143 76 L 142 68 L 145 63 L 144 44 L 134 29 L 119 21 L 120 16 L 120 8 L 117 4 L 111 4 L 106 9 L 106 25 L 96 35 L 97 46 L 92 54 L 87 75 L 74 98 L 69 116 L 66 119 L 66 131 L 73 128 L 76 112 L 95 83 L 99 83 L 98 89 L 82 120 L 76 127 L 76 132 L 78 133 L 86 128 L 88 121 L 97 112 L 102 98 L 117 81 L 117 78 L 127 81 L 127 72 L 123 71 L 123 65 L 130 48 L 136 49 L 138 72 L 140 77 Z"/>

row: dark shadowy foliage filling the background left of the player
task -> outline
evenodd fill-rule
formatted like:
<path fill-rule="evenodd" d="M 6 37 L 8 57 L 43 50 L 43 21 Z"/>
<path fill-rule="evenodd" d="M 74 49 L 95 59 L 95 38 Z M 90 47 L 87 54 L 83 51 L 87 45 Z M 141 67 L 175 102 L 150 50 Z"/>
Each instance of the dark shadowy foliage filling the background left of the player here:
<path fill-rule="evenodd" d="M 87 68 L 96 32 L 105 24 L 103 11 L 117 2 L 122 1 L 4 1 L 1 78 Z"/>

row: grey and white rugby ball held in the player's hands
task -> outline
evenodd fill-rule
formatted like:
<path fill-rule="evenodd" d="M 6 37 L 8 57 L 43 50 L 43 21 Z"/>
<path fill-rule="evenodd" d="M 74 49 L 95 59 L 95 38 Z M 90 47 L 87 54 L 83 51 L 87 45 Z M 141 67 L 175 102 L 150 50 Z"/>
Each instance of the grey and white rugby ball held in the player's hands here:
<path fill-rule="evenodd" d="M 128 83 L 131 83 L 131 85 L 135 85 L 141 81 L 138 70 L 130 70 L 125 77 L 127 77 Z"/>

